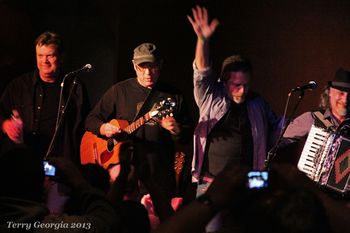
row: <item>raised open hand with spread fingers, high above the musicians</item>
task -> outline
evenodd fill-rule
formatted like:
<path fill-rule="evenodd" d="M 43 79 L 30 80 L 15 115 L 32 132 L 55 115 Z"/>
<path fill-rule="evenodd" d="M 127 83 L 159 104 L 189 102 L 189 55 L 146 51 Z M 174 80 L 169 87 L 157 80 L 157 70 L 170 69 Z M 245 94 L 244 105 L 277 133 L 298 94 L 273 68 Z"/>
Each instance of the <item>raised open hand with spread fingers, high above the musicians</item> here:
<path fill-rule="evenodd" d="M 219 21 L 215 18 L 209 23 L 208 11 L 205 7 L 197 5 L 195 8 L 192 8 L 192 13 L 193 19 L 190 16 L 187 16 L 187 18 L 192 24 L 197 37 L 202 40 L 209 39 L 219 25 Z"/>

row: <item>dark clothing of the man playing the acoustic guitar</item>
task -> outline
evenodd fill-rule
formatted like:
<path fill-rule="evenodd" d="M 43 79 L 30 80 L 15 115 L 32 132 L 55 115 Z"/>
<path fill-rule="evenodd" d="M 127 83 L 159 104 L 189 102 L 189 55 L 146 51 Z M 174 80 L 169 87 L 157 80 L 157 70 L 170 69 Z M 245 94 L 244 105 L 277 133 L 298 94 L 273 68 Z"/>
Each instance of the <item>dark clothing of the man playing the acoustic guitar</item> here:
<path fill-rule="evenodd" d="M 99 135 L 101 125 L 112 119 L 127 120 L 131 123 L 137 118 L 138 110 L 150 92 L 151 89 L 140 85 L 136 78 L 113 85 L 88 115 L 85 122 L 86 129 Z M 159 100 L 171 97 L 176 103 L 173 115 L 177 122 L 180 124 L 188 122 L 183 97 L 176 89 L 158 81 L 152 92 L 151 101 L 147 100 L 150 104 L 146 104 L 144 111 L 139 115 L 150 111 L 152 105 Z M 136 130 L 132 136 L 143 145 L 142 153 L 147 154 L 151 176 L 160 186 L 167 189 L 168 193 L 173 192 L 175 151 L 170 132 L 151 120 Z"/>

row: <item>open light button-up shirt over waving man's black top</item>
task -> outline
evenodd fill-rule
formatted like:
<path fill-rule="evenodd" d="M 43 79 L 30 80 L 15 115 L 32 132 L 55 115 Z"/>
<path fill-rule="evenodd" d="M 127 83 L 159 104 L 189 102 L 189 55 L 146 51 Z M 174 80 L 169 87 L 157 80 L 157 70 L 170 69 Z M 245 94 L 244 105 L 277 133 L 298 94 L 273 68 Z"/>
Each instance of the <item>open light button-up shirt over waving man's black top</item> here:
<path fill-rule="evenodd" d="M 215 79 L 211 67 L 199 71 L 193 63 L 193 70 L 194 98 L 199 108 L 199 120 L 194 132 L 192 181 L 197 182 L 201 175 L 207 137 L 228 111 L 231 100 L 223 83 Z M 254 144 L 252 169 L 262 170 L 268 149 L 280 133 L 282 118 L 258 95 L 246 101 Z"/>

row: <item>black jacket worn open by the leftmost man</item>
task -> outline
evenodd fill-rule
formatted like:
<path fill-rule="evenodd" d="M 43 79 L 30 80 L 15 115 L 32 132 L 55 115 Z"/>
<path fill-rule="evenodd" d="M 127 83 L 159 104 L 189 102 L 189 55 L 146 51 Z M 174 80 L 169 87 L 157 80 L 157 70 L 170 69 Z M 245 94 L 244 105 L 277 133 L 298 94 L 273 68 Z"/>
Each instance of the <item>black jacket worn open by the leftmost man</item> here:
<path fill-rule="evenodd" d="M 61 78 L 56 84 L 60 85 Z M 65 111 L 64 119 L 57 133 L 57 140 L 54 143 L 53 153 L 65 156 L 74 163 L 79 163 L 79 145 L 83 134 L 83 121 L 89 110 L 87 91 L 82 83 L 77 79 L 73 85 L 74 77 L 68 77 L 63 89 L 63 104 L 68 99 L 70 89 L 74 87 L 69 104 Z M 2 94 L 0 102 L 0 125 L 3 121 L 11 117 L 13 109 L 19 112 L 23 120 L 24 143 L 32 147 L 41 156 L 44 156 L 54 129 L 50 137 L 39 140 L 42 135 L 38 135 L 40 129 L 41 106 L 45 98 L 43 85 L 38 75 L 38 71 L 24 74 L 12 80 Z M 50 106 L 51 107 L 51 106 Z M 52 103 L 52 108 L 57 109 L 58 103 Z M 0 133 L 2 149 L 11 147 L 12 142 L 4 133 Z M 38 144 L 38 141 L 45 143 Z"/>

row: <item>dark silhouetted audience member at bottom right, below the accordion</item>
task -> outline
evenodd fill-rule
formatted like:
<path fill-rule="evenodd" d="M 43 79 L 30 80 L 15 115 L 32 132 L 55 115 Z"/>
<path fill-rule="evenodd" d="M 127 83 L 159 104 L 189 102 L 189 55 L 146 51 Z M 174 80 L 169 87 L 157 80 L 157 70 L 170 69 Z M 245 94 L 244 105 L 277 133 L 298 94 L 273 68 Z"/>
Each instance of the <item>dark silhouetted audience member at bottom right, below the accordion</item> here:
<path fill-rule="evenodd" d="M 223 211 L 224 232 L 331 232 L 324 204 L 305 175 L 293 165 L 280 164 L 269 173 L 268 188 L 246 188 L 232 198 L 234 204 Z"/>

